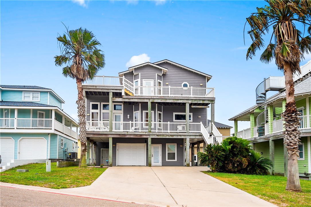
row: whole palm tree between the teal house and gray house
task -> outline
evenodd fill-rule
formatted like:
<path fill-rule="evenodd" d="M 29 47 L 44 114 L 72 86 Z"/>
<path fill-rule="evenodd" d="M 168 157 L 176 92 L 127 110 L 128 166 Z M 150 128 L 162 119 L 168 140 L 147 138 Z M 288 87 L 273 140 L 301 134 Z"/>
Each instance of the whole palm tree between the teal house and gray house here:
<path fill-rule="evenodd" d="M 55 65 L 64 66 L 63 75 L 77 81 L 78 88 L 78 118 L 79 137 L 81 142 L 81 157 L 79 167 L 86 166 L 86 117 L 85 99 L 82 90 L 82 82 L 92 79 L 96 73 L 104 68 L 104 54 L 97 47 L 100 42 L 95 35 L 86 29 L 79 28 L 70 30 L 63 36 L 58 36 L 57 40 L 61 55 L 55 56 Z"/>

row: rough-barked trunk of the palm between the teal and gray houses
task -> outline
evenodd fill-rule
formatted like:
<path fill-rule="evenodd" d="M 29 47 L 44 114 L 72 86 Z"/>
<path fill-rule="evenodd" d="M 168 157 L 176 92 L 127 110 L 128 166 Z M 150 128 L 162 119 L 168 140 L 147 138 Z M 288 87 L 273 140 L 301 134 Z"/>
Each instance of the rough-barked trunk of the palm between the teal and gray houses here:
<path fill-rule="evenodd" d="M 86 167 L 86 121 L 85 121 L 85 100 L 82 89 L 82 80 L 77 80 L 77 88 L 78 88 L 78 118 L 79 118 L 79 138 L 81 143 L 81 155 L 80 155 L 80 163 L 79 167 Z"/>

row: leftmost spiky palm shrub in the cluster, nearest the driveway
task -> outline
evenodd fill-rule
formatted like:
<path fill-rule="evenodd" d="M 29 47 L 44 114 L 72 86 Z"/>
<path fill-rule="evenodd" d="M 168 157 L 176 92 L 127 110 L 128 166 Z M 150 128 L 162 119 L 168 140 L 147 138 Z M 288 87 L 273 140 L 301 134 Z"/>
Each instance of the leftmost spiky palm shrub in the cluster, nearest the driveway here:
<path fill-rule="evenodd" d="M 222 166 L 225 153 L 220 145 L 209 144 L 204 152 L 198 152 L 198 159 L 202 165 L 209 165 L 211 170 L 218 170 Z"/>

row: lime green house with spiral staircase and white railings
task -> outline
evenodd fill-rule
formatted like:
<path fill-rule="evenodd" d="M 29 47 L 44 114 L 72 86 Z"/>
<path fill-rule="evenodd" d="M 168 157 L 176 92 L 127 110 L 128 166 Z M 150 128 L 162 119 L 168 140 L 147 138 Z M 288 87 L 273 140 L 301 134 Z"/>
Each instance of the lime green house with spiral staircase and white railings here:
<path fill-rule="evenodd" d="M 295 101 L 302 119 L 299 127 L 301 144 L 298 159 L 300 179 L 311 180 L 311 60 L 295 75 Z M 269 90 L 278 91 L 270 98 Z M 251 141 L 254 150 L 273 162 L 271 174 L 287 174 L 287 153 L 283 144 L 283 120 L 286 94 L 284 76 L 270 76 L 256 88 L 256 105 L 230 118 L 234 121 L 234 135 Z M 250 128 L 238 131 L 238 121 L 249 121 Z"/>

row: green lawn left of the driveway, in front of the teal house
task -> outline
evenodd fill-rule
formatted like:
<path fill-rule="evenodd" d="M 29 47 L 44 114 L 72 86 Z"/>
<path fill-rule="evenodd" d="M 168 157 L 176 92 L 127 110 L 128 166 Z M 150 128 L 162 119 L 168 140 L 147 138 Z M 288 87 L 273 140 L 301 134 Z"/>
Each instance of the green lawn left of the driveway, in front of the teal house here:
<path fill-rule="evenodd" d="M 28 169 L 29 172 L 18 173 L 16 169 Z M 0 181 L 55 189 L 75 188 L 91 185 L 105 170 L 106 168 L 75 166 L 57 168 L 56 163 L 51 163 L 51 172 L 45 172 L 45 163 L 35 163 L 18 166 L 0 173 Z"/>

